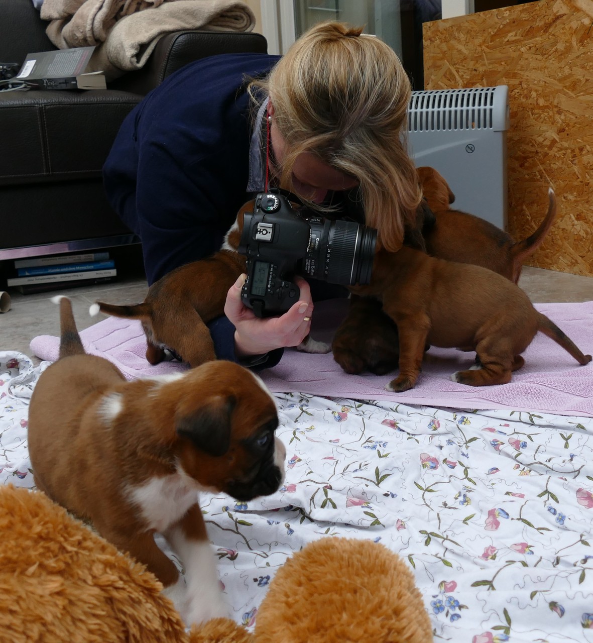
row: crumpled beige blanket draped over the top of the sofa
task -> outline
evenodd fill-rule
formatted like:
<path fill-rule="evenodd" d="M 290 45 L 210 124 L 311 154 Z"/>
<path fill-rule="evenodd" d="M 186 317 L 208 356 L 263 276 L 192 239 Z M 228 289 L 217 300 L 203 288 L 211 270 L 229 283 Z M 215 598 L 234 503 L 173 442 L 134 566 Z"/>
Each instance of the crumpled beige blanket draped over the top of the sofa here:
<path fill-rule="evenodd" d="M 250 32 L 251 8 L 238 0 L 44 0 L 41 17 L 60 49 L 98 45 L 87 71 L 108 80 L 141 68 L 166 33 Z"/>

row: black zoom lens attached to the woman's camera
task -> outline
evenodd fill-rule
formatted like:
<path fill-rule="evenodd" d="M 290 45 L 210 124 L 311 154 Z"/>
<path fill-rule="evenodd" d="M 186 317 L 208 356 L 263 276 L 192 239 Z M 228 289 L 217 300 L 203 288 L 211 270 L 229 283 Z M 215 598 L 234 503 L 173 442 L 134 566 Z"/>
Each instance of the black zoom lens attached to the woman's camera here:
<path fill-rule="evenodd" d="M 353 221 L 310 219 L 309 224 L 311 244 L 303 260 L 306 273 L 330 284 L 368 284 L 377 231 Z"/>

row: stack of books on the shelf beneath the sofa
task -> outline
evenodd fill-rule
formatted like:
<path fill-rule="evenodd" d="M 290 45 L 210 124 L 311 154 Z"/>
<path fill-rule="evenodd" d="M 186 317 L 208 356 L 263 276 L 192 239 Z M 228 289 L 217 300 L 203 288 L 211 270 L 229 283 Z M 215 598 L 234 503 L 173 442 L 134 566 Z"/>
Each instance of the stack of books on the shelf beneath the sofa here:
<path fill-rule="evenodd" d="M 23 294 L 101 284 L 117 275 L 109 252 L 17 259 L 14 267 L 16 274 L 6 279 L 6 285 Z"/>

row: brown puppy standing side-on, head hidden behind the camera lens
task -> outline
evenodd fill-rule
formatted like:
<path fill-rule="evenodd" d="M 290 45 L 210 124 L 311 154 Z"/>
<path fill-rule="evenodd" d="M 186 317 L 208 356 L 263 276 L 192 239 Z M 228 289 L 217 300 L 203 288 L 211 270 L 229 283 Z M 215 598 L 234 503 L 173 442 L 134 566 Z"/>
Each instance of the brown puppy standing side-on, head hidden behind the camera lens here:
<path fill-rule="evenodd" d="M 553 192 L 550 190 L 550 199 Z M 396 323 L 399 375 L 387 390 L 401 392 L 416 384 L 425 345 L 475 350 L 476 365 L 452 374 L 470 386 L 505 384 L 521 368 L 520 355 L 537 332 L 543 332 L 578 363 L 591 361 L 533 304 L 517 285 L 481 266 L 429 257 L 406 248 L 375 255 L 371 283 L 350 286 L 373 296 Z"/>

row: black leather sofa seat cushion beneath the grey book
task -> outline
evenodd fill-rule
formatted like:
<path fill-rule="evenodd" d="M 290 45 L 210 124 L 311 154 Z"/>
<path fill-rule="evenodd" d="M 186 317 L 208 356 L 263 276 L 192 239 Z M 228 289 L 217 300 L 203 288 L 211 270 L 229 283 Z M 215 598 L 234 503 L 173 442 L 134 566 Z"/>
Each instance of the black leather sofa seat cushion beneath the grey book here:
<path fill-rule="evenodd" d="M 0 185 L 100 177 L 142 98 L 114 89 L 0 92 Z"/>

